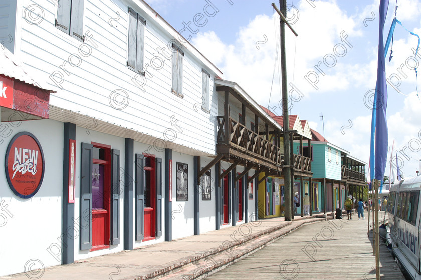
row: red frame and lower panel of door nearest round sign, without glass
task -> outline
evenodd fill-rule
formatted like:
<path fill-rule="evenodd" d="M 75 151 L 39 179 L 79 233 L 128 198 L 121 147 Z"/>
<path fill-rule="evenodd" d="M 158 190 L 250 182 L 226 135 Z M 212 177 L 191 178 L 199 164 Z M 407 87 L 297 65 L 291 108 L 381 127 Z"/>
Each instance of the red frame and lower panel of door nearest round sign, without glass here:
<path fill-rule="evenodd" d="M 105 160 L 93 159 L 92 164 L 104 165 L 104 209 L 96 210 L 92 209 L 92 248 L 89 251 L 97 251 L 102 249 L 108 249 L 110 247 L 110 192 L 111 192 L 111 146 L 104 145 L 96 142 L 91 142 L 94 148 L 105 149 Z M 96 227 L 100 221 L 101 215 L 105 215 L 104 218 L 104 244 L 94 246 L 94 234 L 102 234 L 99 230 L 101 228 Z M 96 222 L 95 222 L 96 221 Z"/>

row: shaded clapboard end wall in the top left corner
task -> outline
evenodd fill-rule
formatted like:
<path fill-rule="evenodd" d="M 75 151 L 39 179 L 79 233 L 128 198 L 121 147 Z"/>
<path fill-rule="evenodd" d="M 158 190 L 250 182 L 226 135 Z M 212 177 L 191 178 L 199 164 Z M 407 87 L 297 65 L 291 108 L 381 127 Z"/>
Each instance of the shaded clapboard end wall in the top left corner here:
<path fill-rule="evenodd" d="M 0 43 L 15 51 L 16 0 L 0 1 Z"/>

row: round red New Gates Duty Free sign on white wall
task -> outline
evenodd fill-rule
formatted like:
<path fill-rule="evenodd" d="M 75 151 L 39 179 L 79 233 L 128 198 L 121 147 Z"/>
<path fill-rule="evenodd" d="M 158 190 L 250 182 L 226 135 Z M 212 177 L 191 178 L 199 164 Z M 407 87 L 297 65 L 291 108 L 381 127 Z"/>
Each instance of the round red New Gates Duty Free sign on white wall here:
<path fill-rule="evenodd" d="M 16 134 L 5 157 L 9 187 L 21 198 L 31 198 L 40 189 L 44 178 L 44 154 L 40 142 L 29 132 Z"/>

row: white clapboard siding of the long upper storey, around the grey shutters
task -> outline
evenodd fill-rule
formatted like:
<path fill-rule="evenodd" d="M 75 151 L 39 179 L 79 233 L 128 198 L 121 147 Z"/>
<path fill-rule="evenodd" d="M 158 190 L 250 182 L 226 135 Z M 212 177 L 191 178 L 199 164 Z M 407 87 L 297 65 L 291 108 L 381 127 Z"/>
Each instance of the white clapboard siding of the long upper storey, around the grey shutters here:
<path fill-rule="evenodd" d="M 23 0 L 23 7 L 30 4 L 40 5 L 44 11 L 44 20 L 39 25 L 30 25 L 22 20 L 21 58 L 42 79 L 47 81 L 56 94 L 51 95 L 50 104 L 69 109 L 88 116 L 115 123 L 123 127 L 164 139 L 164 131 L 176 131 L 174 142 L 215 154 L 215 116 L 217 100 L 214 93 L 214 76 L 209 85 L 211 110 L 210 115 L 201 110 L 201 69 L 209 69 L 197 57 L 185 49 L 183 57 L 183 94 L 184 98 L 171 93 L 172 60 L 158 53 L 157 48 L 165 47 L 165 54 L 172 54 L 168 42 L 173 39 L 153 19 L 142 10 L 136 10 L 146 20 L 144 38 L 144 66 L 146 84 L 143 92 L 133 81 L 136 73 L 126 67 L 128 6 L 117 0 L 85 0 L 83 33 L 92 36 L 85 39 L 91 46 L 92 53 L 83 57 L 78 47 L 82 42 L 70 37 L 54 27 L 57 7 L 46 0 Z M 135 8 L 135 7 L 133 7 Z M 121 18 L 116 18 L 116 12 Z M 94 47 L 94 44 L 97 47 Z M 70 75 L 60 66 L 69 56 L 81 57 L 79 67 L 65 65 Z M 154 69 L 151 60 L 159 57 L 163 63 L 161 69 Z M 73 57 L 76 61 L 76 58 Z M 156 58 L 155 58 L 156 59 Z M 155 60 L 156 65 L 160 62 Z M 49 77 L 55 71 L 64 75 L 61 90 Z M 58 75 L 56 75 L 58 78 Z M 139 81 L 141 81 L 139 79 Z M 109 104 L 109 96 L 114 90 L 127 92 L 130 101 L 122 110 L 114 109 Z M 195 110 L 198 108 L 198 110 Z M 178 120 L 176 125 L 182 132 L 171 125 L 171 117 Z M 168 134 L 168 136 L 173 134 Z"/>

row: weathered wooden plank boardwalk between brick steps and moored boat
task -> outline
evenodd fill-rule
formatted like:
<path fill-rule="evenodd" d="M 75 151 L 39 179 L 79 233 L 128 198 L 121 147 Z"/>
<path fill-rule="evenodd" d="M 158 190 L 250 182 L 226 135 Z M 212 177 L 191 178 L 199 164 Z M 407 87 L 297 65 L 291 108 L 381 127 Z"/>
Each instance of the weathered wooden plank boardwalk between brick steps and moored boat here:
<path fill-rule="evenodd" d="M 303 226 L 207 279 L 375 279 L 367 219 L 353 217 Z M 380 275 L 404 279 L 382 242 Z"/>

